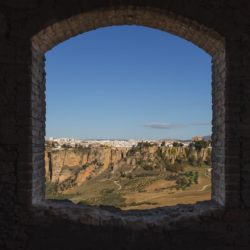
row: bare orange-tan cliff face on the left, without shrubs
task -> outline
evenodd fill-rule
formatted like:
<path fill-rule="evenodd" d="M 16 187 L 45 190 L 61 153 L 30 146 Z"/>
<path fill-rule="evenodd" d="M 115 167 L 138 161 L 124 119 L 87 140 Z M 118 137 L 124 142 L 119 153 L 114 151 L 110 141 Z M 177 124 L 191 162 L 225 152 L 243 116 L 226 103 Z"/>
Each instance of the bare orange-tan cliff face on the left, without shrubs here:
<path fill-rule="evenodd" d="M 87 179 L 104 172 L 110 165 L 117 164 L 126 152 L 126 148 L 105 146 L 58 150 L 47 148 L 45 176 L 52 183 L 67 181 L 67 186 L 81 185 Z"/>

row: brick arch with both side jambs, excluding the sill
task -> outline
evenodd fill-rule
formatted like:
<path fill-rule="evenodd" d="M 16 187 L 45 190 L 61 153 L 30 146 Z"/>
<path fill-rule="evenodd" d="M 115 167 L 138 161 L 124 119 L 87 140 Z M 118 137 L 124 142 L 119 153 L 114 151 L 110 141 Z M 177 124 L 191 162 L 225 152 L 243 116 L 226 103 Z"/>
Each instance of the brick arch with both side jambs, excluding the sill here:
<path fill-rule="evenodd" d="M 32 130 L 33 140 L 44 141 L 45 134 L 45 71 L 44 53 L 75 35 L 111 25 L 143 25 L 166 31 L 191 41 L 212 56 L 213 72 L 213 190 L 212 198 L 226 205 L 231 193 L 225 182 L 225 45 L 217 32 L 172 12 L 154 8 L 120 7 L 85 12 L 56 22 L 32 37 Z M 31 202 L 44 197 L 43 150 L 32 151 L 33 180 Z M 230 198 L 232 200 L 232 198 Z"/>

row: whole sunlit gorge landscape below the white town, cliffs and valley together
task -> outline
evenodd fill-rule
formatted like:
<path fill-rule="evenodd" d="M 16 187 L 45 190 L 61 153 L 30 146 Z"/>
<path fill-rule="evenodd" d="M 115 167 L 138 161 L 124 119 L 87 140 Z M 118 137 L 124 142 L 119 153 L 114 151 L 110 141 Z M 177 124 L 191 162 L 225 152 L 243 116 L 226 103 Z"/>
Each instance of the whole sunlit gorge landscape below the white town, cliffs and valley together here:
<path fill-rule="evenodd" d="M 46 198 L 148 209 L 210 199 L 211 147 L 139 142 L 130 148 L 46 144 Z"/>

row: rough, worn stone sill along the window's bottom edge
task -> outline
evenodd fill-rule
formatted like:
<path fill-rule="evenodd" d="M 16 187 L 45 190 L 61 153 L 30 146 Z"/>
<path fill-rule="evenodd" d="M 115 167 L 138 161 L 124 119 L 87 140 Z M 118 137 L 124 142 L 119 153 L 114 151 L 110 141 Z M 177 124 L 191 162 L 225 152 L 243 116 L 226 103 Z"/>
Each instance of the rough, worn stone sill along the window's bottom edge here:
<path fill-rule="evenodd" d="M 181 229 L 219 217 L 224 209 L 214 201 L 176 205 L 149 210 L 122 211 L 113 207 L 75 205 L 67 201 L 45 200 L 33 205 L 35 217 L 57 217 L 81 224 L 118 226 L 133 230 L 152 227 Z"/>

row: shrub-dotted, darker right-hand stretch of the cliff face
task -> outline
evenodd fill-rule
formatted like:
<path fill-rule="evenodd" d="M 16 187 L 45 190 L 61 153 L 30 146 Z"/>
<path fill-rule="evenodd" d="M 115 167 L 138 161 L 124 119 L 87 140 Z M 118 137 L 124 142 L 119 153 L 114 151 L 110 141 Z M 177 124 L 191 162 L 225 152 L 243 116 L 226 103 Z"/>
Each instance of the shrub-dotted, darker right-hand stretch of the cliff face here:
<path fill-rule="evenodd" d="M 196 150 L 194 147 L 161 147 L 158 145 L 138 145 L 131 148 L 118 164 L 113 174 L 122 176 L 144 175 L 156 171 L 178 172 L 184 164 L 210 164 L 211 149 Z"/>

